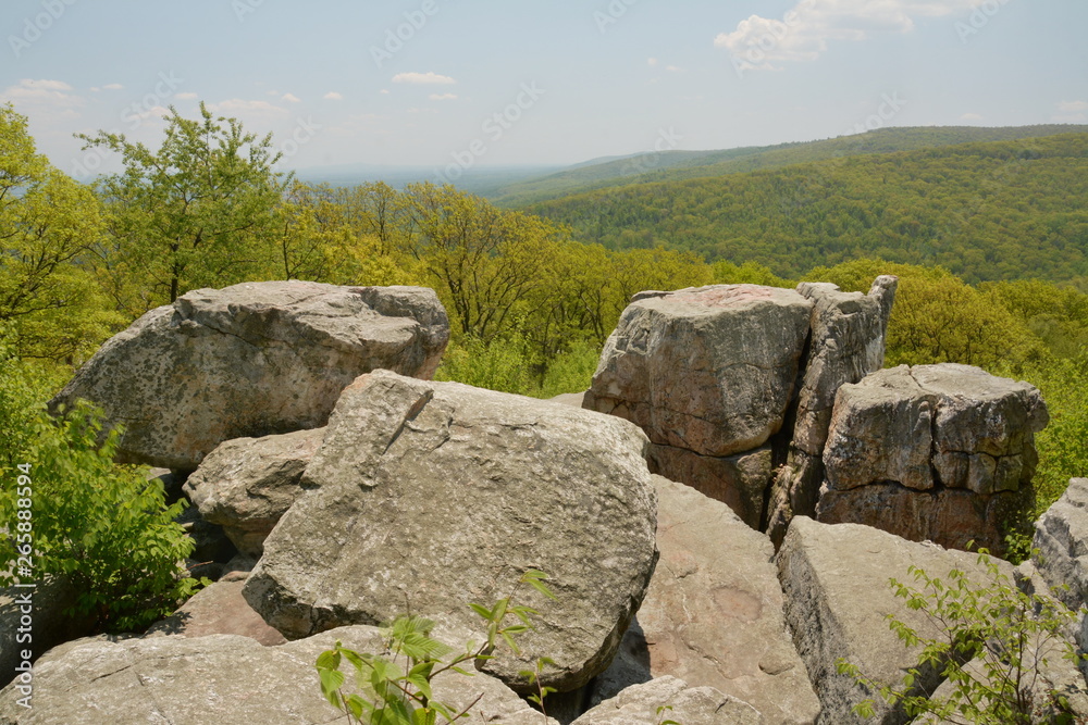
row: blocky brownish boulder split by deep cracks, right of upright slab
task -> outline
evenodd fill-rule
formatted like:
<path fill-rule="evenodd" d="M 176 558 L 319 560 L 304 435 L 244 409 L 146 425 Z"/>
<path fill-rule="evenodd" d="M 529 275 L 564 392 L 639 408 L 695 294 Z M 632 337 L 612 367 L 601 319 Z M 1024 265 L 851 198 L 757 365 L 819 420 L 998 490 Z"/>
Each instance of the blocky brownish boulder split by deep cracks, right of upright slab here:
<path fill-rule="evenodd" d="M 836 399 L 816 517 L 1001 554 L 1031 500 L 1039 391 L 968 365 L 883 370 Z"/>

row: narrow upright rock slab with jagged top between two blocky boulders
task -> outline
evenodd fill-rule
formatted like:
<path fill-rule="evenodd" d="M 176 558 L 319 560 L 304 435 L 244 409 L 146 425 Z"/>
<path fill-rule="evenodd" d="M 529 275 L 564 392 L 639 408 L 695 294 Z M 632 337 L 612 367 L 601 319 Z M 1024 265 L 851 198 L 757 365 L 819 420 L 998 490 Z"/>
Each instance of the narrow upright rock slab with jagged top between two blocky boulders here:
<path fill-rule="evenodd" d="M 827 283 L 798 286 L 798 292 L 813 301 L 813 313 L 788 465 L 769 495 L 766 530 L 776 542 L 781 542 L 794 515 L 815 513 L 836 392 L 883 366 L 898 282 L 898 277 L 877 277 L 868 295 L 843 292 Z"/>

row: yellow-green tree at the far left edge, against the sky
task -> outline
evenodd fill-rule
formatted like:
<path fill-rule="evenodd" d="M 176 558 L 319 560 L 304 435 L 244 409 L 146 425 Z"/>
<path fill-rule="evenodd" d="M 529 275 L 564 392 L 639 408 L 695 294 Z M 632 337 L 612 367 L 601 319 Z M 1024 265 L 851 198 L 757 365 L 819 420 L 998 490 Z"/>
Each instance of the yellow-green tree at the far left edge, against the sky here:
<path fill-rule="evenodd" d="M 23 358 L 76 362 L 118 322 L 83 266 L 100 208 L 36 152 L 26 125 L 0 105 L 0 325 Z"/>

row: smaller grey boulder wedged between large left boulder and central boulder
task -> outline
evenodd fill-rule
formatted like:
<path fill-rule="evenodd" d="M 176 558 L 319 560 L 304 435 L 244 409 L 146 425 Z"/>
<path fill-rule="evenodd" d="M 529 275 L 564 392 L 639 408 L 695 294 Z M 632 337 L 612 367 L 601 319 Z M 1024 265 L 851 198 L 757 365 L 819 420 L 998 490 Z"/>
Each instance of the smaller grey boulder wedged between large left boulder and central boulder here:
<path fill-rule="evenodd" d="M 224 441 L 185 482 L 185 493 L 238 551 L 259 558 L 269 533 L 305 490 L 302 472 L 324 434 L 312 428 Z"/>

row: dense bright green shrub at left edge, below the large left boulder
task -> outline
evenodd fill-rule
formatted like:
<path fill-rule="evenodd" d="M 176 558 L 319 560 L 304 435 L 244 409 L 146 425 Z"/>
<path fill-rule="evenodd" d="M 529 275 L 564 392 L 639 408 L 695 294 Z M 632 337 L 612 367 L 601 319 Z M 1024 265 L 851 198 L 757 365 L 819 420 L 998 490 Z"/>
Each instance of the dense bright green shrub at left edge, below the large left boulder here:
<path fill-rule="evenodd" d="M 198 584 L 180 566 L 194 546 L 174 522 L 184 504 L 165 505 L 162 483 L 148 482 L 146 468 L 113 463 L 120 433 L 102 435 L 89 404 L 54 420 L 32 402 L 40 390 L 25 374 L 18 362 L 0 360 L 2 442 L 10 446 L 0 485 L 0 526 L 9 532 L 0 537 L 0 572 L 10 574 L 0 586 L 63 577 L 78 592 L 70 614 L 89 616 L 101 632 L 141 629 Z M 26 555 L 32 566 L 21 573 Z"/>

